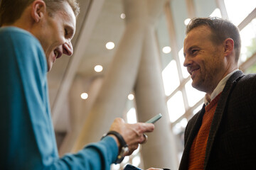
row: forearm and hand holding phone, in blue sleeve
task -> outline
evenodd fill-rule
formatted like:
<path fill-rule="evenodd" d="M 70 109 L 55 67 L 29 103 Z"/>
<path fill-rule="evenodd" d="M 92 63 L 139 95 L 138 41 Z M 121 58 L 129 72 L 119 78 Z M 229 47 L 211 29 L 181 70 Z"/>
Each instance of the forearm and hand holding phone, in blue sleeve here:
<path fill-rule="evenodd" d="M 129 153 L 132 154 L 139 146 L 139 143 L 144 142 L 144 132 L 154 130 L 154 125 L 151 123 L 124 123 L 121 118 L 116 118 L 110 127 L 110 131 L 119 132 L 124 138 L 129 147 Z M 114 135 L 104 137 L 100 142 L 87 145 L 77 154 L 67 154 L 63 158 L 58 159 L 56 164 L 53 164 L 53 169 L 65 169 L 66 166 L 81 169 L 110 169 L 110 164 L 117 159 L 119 152 L 119 140 Z"/>

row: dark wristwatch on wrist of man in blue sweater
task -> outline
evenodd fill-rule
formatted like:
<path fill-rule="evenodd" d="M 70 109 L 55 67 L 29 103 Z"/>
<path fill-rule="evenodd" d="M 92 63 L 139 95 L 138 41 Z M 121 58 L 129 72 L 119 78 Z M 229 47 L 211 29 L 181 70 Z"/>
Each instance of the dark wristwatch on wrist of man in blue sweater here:
<path fill-rule="evenodd" d="M 117 137 L 117 140 L 120 143 L 120 147 L 119 147 L 119 154 L 117 156 L 117 160 L 114 162 L 114 164 L 120 164 L 122 162 L 122 160 L 124 159 L 124 155 L 127 154 L 129 152 L 129 148 L 127 143 L 125 142 L 124 138 L 122 137 L 122 135 L 119 134 L 119 132 L 116 131 L 109 131 L 107 133 L 105 133 L 102 136 L 102 139 L 104 137 L 106 137 L 107 135 L 114 135 L 115 137 Z"/>

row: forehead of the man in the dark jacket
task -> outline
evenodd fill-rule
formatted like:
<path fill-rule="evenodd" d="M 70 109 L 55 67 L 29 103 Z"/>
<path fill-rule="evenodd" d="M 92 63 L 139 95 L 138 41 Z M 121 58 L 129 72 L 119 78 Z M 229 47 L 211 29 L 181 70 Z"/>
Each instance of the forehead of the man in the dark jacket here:
<path fill-rule="evenodd" d="M 208 26 L 198 26 L 188 32 L 184 39 L 184 50 L 193 45 L 203 45 L 211 42 L 212 32 Z"/>

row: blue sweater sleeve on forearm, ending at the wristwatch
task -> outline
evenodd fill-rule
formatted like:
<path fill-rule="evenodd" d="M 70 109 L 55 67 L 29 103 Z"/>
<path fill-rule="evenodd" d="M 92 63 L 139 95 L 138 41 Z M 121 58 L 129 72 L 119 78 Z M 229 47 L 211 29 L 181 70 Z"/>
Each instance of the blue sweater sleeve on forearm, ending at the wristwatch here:
<path fill-rule="evenodd" d="M 118 147 L 112 137 L 105 137 L 102 141 L 85 146 L 76 154 L 65 154 L 62 158 L 55 158 L 53 164 L 45 169 L 110 169 L 117 158 Z"/>

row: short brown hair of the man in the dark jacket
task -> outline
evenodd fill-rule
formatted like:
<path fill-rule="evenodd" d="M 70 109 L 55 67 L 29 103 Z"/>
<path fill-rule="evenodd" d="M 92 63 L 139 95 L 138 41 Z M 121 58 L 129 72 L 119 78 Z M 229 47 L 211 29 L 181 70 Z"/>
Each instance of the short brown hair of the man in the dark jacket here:
<path fill-rule="evenodd" d="M 235 62 L 238 62 L 241 51 L 241 38 L 237 26 L 218 17 L 193 18 L 186 27 L 186 34 L 198 26 L 208 26 L 210 28 L 212 40 L 216 45 L 220 45 L 227 38 L 232 38 L 235 44 Z"/>

